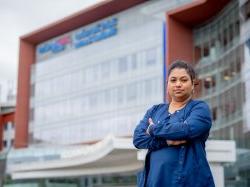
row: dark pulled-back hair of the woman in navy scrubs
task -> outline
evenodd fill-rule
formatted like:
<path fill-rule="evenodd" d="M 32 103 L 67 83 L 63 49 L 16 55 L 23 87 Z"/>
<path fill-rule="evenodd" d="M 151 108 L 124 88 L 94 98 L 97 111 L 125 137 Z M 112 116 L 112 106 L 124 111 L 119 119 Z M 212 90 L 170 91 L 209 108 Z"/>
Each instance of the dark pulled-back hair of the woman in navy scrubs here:
<path fill-rule="evenodd" d="M 187 74 L 190 76 L 192 83 L 194 82 L 194 79 L 196 78 L 196 73 L 194 71 L 194 68 L 189 63 L 187 63 L 183 60 L 174 61 L 168 69 L 168 76 L 176 68 L 185 69 Z"/>

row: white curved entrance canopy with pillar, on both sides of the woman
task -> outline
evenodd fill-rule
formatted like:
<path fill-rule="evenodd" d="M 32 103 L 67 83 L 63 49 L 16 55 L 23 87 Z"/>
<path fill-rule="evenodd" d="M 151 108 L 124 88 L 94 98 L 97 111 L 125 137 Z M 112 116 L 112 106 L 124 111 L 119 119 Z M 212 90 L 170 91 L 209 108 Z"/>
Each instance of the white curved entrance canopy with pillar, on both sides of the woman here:
<path fill-rule="evenodd" d="M 33 155 L 38 155 L 33 158 L 33 161 L 26 160 L 22 162 L 16 159 L 18 157 L 17 151 L 23 151 L 23 156 L 28 149 L 32 150 Z M 39 151 L 44 150 L 43 148 L 28 149 L 11 151 L 8 157 L 7 171 L 13 179 L 136 171 L 143 167 L 143 161 L 141 160 L 144 160 L 146 153 L 146 150 L 137 151 L 132 144 L 131 138 L 115 138 L 114 136 L 108 136 L 94 145 L 50 148 L 50 154 L 49 152 L 44 153 L 44 151 L 43 157 L 39 155 Z M 206 150 L 216 186 L 223 187 L 224 172 L 222 164 L 236 160 L 235 143 L 233 141 L 212 140 L 207 142 Z M 27 156 L 28 154 L 26 154 Z M 48 158 L 51 159 L 47 160 Z"/>

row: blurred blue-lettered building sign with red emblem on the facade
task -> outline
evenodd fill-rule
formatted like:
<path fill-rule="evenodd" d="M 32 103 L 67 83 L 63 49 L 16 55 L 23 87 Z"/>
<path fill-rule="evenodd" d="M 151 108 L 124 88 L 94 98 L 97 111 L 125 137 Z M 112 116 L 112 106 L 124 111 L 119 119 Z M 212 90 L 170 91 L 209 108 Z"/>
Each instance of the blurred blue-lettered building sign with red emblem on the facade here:
<path fill-rule="evenodd" d="M 117 34 L 117 18 L 99 22 L 90 27 L 83 27 L 63 35 L 57 39 L 50 40 L 37 47 L 37 57 L 50 57 L 62 51 L 77 49 L 104 40 Z"/>

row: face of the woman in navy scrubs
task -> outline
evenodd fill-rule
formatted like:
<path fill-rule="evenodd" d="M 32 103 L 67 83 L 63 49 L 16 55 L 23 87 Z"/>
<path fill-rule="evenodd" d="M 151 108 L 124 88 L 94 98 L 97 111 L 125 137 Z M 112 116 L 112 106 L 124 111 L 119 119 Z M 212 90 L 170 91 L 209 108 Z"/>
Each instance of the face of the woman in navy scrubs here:
<path fill-rule="evenodd" d="M 191 77 L 183 68 L 175 68 L 168 77 L 168 92 L 175 101 L 185 101 L 193 92 Z"/>

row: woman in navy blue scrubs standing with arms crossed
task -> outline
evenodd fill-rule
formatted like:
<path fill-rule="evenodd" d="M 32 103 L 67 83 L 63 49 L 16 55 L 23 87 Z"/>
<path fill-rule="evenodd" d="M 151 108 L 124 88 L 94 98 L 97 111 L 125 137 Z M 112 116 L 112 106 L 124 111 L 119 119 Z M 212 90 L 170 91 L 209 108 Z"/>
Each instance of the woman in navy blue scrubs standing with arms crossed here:
<path fill-rule="evenodd" d="M 194 69 L 176 61 L 168 71 L 169 104 L 150 108 L 134 131 L 133 143 L 148 149 L 140 187 L 214 187 L 205 142 L 211 128 L 208 105 L 192 100 Z"/>

